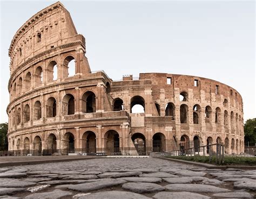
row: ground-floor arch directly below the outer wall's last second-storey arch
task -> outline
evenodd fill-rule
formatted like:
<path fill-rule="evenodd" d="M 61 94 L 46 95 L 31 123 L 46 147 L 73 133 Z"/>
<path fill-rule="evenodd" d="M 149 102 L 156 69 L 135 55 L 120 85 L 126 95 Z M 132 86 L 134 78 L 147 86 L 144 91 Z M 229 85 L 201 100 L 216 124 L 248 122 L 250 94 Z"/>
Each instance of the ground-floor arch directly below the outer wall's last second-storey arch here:
<path fill-rule="evenodd" d="M 83 134 L 83 151 L 87 154 L 96 153 L 96 135 L 92 131 L 87 131 Z"/>

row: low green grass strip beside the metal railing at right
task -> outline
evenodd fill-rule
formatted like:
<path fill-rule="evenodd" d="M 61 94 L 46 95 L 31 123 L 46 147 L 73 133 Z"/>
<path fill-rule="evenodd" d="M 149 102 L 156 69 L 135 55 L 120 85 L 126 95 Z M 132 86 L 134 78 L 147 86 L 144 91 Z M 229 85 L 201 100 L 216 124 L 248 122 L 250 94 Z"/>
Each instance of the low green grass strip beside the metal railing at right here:
<path fill-rule="evenodd" d="M 192 162 L 209 163 L 209 156 L 169 156 L 171 159 L 186 160 Z M 212 157 L 212 164 L 215 164 L 216 156 Z M 225 156 L 222 165 L 246 165 L 256 166 L 256 157 Z"/>

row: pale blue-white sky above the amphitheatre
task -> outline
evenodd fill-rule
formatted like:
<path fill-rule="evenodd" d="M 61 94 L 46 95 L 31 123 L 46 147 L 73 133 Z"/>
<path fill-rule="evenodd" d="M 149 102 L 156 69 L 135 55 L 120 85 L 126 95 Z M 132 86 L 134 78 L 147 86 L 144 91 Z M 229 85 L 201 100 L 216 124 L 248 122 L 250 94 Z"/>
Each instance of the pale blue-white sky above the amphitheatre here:
<path fill-rule="evenodd" d="M 1 1 L 0 123 L 8 122 L 8 49 L 16 31 L 56 1 Z M 61 1 L 86 39 L 92 71 L 113 80 L 188 74 L 235 88 L 255 118 L 254 1 Z"/>

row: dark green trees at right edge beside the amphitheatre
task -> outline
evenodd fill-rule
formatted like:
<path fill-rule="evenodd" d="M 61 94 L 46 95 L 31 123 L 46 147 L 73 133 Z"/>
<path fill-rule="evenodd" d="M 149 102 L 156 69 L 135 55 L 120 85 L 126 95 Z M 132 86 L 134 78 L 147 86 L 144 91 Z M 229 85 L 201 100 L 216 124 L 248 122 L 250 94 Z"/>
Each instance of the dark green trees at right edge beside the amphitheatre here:
<path fill-rule="evenodd" d="M 250 143 L 250 146 L 254 146 L 256 143 L 256 118 L 248 119 L 245 122 L 245 145 Z"/>

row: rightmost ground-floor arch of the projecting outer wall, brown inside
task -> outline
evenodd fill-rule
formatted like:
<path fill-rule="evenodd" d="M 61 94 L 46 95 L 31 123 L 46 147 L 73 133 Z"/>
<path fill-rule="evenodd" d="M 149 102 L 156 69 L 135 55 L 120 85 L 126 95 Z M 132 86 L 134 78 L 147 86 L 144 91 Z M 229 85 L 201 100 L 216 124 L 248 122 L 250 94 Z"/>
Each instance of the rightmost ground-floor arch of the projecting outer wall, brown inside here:
<path fill-rule="evenodd" d="M 107 155 L 112 155 L 113 153 L 120 153 L 119 134 L 116 131 L 107 131 L 104 138 Z"/>

